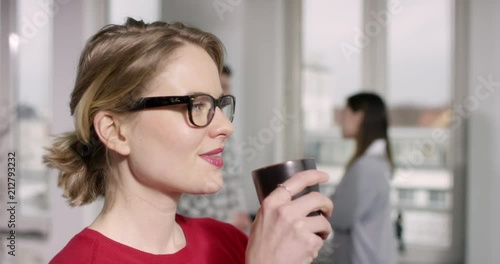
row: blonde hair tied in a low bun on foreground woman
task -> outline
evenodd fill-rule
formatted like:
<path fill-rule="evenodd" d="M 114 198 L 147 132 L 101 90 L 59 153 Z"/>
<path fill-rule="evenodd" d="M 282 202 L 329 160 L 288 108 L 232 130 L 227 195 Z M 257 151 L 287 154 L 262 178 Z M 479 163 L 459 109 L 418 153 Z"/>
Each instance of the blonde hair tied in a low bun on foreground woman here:
<path fill-rule="evenodd" d="M 58 186 L 70 205 L 112 195 L 107 150 L 92 126 L 95 115 L 102 110 L 128 112 L 169 56 L 188 44 L 203 48 L 222 70 L 220 40 L 181 23 L 146 24 L 128 18 L 124 25 L 105 26 L 88 41 L 71 94 L 75 131 L 57 136 L 43 157 L 48 167 L 59 170 Z"/>

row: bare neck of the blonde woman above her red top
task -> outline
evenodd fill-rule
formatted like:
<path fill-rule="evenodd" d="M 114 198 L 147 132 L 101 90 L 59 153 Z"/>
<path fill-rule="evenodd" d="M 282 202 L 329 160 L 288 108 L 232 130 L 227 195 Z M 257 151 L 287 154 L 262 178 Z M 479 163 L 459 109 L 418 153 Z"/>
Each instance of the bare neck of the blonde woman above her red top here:
<path fill-rule="evenodd" d="M 186 239 L 175 222 L 180 195 L 169 197 L 140 184 L 134 188 L 131 185 L 121 182 L 115 186 L 112 199 L 106 200 L 89 228 L 152 254 L 172 254 L 182 249 Z"/>

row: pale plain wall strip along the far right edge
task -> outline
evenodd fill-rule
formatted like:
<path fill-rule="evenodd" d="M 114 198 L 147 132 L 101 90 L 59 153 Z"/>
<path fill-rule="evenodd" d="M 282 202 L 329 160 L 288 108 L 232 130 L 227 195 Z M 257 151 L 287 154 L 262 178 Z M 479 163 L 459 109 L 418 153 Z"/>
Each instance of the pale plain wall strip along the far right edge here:
<path fill-rule="evenodd" d="M 470 107 L 468 127 L 466 263 L 496 264 L 500 263 L 500 3 L 470 0 L 470 10 L 468 77 L 470 94 L 479 103 L 477 109 Z M 495 83 L 489 96 L 480 79 Z M 480 86 L 482 95 L 476 92 Z"/>

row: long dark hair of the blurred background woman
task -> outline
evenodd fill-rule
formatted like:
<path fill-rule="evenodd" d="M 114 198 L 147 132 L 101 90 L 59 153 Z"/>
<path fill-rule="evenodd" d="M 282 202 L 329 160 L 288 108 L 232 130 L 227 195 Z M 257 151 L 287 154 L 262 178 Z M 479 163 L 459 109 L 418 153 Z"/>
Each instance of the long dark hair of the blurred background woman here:
<path fill-rule="evenodd" d="M 356 152 L 354 152 L 347 167 L 350 167 L 357 158 L 363 155 L 373 141 L 376 139 L 385 139 L 387 142 L 387 159 L 391 167 L 394 168 L 390 141 L 387 135 L 389 120 L 382 98 L 374 93 L 362 92 L 349 97 L 347 99 L 347 106 L 353 112 L 363 111 L 364 113 L 363 122 L 356 136 Z"/>

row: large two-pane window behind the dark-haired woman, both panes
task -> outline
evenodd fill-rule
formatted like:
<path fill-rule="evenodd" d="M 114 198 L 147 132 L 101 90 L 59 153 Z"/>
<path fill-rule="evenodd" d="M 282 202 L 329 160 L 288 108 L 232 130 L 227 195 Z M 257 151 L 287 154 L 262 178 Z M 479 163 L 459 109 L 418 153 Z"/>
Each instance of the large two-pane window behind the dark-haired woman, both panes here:
<path fill-rule="evenodd" d="M 318 0 L 302 4 L 304 150 L 331 176 L 332 187 L 325 194 L 334 191 L 354 151 L 353 142 L 341 138 L 338 126 L 344 100 L 361 88 L 375 90 L 386 100 L 390 115 L 396 165 L 391 197 L 394 210 L 405 219 L 409 253 L 401 255 L 400 261 L 456 260 L 462 256 L 458 243 L 463 242 L 454 241 L 463 240 L 455 239 L 461 237 L 463 226 L 454 226 L 452 215 L 455 207 L 464 205 L 451 199 L 456 193 L 450 151 L 450 139 L 457 133 L 450 128 L 456 93 L 451 85 L 455 2 Z M 385 11 L 390 14 L 386 12 L 386 21 L 381 21 Z M 359 48 L 363 33 L 370 45 Z M 422 248 L 425 254 L 411 253 Z"/>

